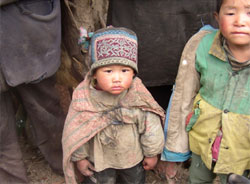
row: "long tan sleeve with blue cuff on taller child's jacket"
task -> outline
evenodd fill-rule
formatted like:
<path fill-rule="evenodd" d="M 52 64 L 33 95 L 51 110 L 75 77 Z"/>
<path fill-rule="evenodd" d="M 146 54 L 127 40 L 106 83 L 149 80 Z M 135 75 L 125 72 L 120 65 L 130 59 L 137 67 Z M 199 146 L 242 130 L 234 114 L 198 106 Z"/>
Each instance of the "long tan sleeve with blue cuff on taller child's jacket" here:
<path fill-rule="evenodd" d="M 202 37 L 209 32 L 201 30 L 196 33 L 182 52 L 176 84 L 166 114 L 166 142 L 161 155 L 163 161 L 182 162 L 190 157 L 185 121 L 192 111 L 194 98 L 200 88 L 200 75 L 195 69 L 196 49 Z"/>

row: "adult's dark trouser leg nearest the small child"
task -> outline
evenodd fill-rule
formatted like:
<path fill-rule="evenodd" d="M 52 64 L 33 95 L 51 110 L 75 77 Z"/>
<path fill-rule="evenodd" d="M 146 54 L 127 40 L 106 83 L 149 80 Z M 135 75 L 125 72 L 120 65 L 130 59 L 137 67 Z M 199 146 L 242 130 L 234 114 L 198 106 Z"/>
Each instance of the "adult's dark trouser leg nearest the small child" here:
<path fill-rule="evenodd" d="M 51 168 L 63 174 L 61 138 L 66 115 L 60 106 L 55 79 L 51 77 L 16 89 L 30 120 L 35 144 Z"/>

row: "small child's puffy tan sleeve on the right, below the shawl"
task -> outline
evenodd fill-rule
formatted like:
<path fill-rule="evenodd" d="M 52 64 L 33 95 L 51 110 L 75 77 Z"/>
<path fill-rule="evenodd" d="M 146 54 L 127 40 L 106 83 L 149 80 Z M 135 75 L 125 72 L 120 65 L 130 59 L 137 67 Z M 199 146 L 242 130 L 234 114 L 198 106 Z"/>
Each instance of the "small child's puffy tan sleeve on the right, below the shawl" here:
<path fill-rule="evenodd" d="M 146 112 L 144 121 L 139 124 L 141 145 L 144 156 L 153 157 L 160 154 L 164 147 L 164 133 L 158 115 Z"/>

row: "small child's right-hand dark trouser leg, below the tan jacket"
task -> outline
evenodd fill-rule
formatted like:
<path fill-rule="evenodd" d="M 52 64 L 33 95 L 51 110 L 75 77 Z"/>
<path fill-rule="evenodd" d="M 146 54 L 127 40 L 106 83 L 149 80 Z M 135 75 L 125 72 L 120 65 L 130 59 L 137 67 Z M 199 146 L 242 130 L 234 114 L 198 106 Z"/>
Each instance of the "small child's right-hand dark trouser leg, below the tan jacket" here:
<path fill-rule="evenodd" d="M 120 184 L 144 184 L 145 183 L 145 170 L 142 163 L 129 169 L 117 169 Z"/>

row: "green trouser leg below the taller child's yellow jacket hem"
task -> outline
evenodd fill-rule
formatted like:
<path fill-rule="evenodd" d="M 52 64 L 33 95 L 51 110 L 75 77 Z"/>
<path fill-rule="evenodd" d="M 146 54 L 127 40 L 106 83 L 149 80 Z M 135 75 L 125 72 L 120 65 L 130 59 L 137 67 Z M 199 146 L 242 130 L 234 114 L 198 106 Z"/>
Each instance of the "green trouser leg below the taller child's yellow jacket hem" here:
<path fill-rule="evenodd" d="M 192 153 L 192 162 L 189 168 L 189 184 L 213 183 L 216 174 L 209 170 L 199 155 Z"/>

